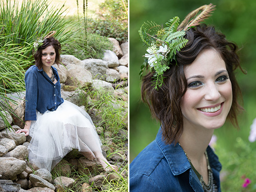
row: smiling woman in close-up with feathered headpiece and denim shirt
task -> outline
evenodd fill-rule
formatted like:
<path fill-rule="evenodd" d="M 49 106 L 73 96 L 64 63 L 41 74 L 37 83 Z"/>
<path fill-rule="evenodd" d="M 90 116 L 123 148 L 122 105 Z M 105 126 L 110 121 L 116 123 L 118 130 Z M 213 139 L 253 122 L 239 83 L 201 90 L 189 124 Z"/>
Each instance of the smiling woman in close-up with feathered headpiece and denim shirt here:
<path fill-rule="evenodd" d="M 234 70 L 241 66 L 235 43 L 200 24 L 213 9 L 205 5 L 180 25 L 174 17 L 166 28 L 149 23 L 139 31 L 149 45 L 142 69 L 150 66 L 142 100 L 161 127 L 130 164 L 131 192 L 220 192 L 221 164 L 209 142 L 227 118 L 237 126 Z"/>

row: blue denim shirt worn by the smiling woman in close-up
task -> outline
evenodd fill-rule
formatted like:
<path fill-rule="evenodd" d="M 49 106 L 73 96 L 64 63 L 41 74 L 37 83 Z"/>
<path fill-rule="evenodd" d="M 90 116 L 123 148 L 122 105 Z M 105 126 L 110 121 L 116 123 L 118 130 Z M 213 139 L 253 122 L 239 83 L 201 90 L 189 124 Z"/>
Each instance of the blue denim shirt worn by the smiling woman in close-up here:
<path fill-rule="evenodd" d="M 220 192 L 221 164 L 209 146 L 206 151 Z M 130 192 L 204 192 L 183 149 L 179 144 L 165 144 L 161 128 L 156 140 L 130 164 L 129 178 Z"/>

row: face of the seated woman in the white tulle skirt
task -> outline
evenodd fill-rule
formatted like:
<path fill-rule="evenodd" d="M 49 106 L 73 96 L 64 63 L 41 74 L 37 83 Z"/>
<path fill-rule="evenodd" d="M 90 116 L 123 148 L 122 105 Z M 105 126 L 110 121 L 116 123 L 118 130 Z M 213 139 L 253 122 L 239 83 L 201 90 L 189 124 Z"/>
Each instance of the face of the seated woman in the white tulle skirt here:
<path fill-rule="evenodd" d="M 44 67 L 50 67 L 55 62 L 56 53 L 52 45 L 42 50 L 42 63 Z"/>

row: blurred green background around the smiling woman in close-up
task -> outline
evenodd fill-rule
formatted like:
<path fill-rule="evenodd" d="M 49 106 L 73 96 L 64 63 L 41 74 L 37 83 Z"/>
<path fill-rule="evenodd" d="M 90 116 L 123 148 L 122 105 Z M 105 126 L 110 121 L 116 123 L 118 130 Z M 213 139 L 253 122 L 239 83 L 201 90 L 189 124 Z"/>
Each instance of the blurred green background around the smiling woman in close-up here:
<path fill-rule="evenodd" d="M 140 66 L 146 53 L 138 29 L 144 21 L 165 25 L 178 16 L 182 21 L 192 10 L 213 3 L 216 10 L 205 23 L 215 26 L 228 40 L 237 43 L 244 75 L 237 70 L 237 80 L 242 89 L 245 112 L 239 115 L 240 130 L 230 123 L 214 132 L 217 136 L 215 151 L 220 158 L 222 191 L 256 191 L 256 142 L 250 143 L 250 125 L 256 118 L 256 1 L 254 0 L 130 0 L 129 1 L 129 155 L 130 163 L 150 142 L 159 128 L 151 118 L 149 108 L 140 100 Z M 244 178 L 251 179 L 242 188 Z M 233 190 L 233 191 L 232 191 Z"/>

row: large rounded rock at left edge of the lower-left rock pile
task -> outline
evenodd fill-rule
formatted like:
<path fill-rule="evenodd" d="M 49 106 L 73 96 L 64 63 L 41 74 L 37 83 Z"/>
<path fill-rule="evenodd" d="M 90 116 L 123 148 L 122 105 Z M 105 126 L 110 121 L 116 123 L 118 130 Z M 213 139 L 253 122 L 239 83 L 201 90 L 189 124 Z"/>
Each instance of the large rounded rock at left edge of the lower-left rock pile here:
<path fill-rule="evenodd" d="M 14 157 L 0 157 L 0 179 L 15 179 L 26 167 L 25 161 Z"/>

